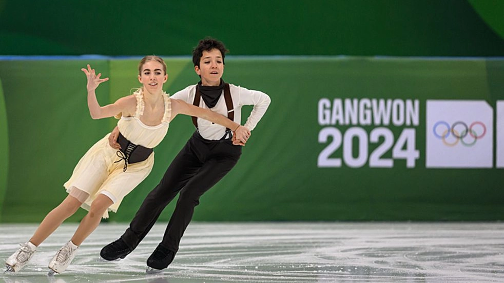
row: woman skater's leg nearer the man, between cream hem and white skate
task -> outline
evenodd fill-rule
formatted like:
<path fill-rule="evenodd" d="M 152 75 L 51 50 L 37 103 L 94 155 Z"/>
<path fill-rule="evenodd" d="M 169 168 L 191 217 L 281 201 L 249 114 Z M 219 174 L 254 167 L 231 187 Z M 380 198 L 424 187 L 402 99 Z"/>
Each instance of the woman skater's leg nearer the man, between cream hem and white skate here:
<path fill-rule="evenodd" d="M 99 194 L 91 203 L 89 212 L 82 218 L 81 224 L 73 234 L 72 242 L 80 246 L 82 242 L 98 227 L 102 220 L 102 215 L 113 204 L 113 201 L 104 194 Z"/>

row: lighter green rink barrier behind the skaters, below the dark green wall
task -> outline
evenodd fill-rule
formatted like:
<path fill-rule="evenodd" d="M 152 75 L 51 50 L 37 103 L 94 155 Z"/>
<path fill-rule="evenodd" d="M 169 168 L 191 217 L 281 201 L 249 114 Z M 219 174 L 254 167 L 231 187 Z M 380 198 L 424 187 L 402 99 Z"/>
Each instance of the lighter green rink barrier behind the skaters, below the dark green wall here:
<path fill-rule="evenodd" d="M 110 77 L 97 91 L 104 104 L 139 86 L 138 60 L 0 60 L 7 114 L 6 119 L 0 115 L 0 123 L 7 120 L 8 126 L 7 130 L 0 128 L 2 134 L 8 133 L 8 145 L 0 151 L 8 156 L 8 182 L 0 188 L 5 191 L 2 221 L 40 221 L 65 197 L 62 185 L 79 158 L 117 123 L 113 118 L 90 118 L 85 75 L 80 69 L 90 63 Z M 197 82 L 190 58 L 166 58 L 166 62 L 167 92 Z M 239 164 L 201 198 L 195 219 L 500 220 L 504 215 L 504 193 L 499 185 L 502 169 L 426 168 L 425 108 L 427 99 L 484 100 L 495 108 L 496 101 L 504 99 L 503 78 L 502 59 L 226 59 L 227 82 L 262 90 L 270 95 L 272 104 L 243 148 Z M 364 156 L 364 163 L 349 166 L 345 158 L 362 153 L 356 146 L 359 140 L 354 138 L 351 157 L 344 157 L 341 147 L 329 150 L 329 159 L 343 159 L 341 166 L 319 167 L 322 152 L 332 143 L 331 137 L 319 141 L 325 128 L 341 133 L 356 128 L 369 136 L 378 127 L 322 125 L 318 112 L 324 98 L 418 100 L 416 125 L 378 125 L 390 130 L 396 144 L 404 129 L 415 133 L 412 141 L 418 158 L 413 166 L 394 157 L 392 148 L 383 158 L 392 158 L 393 167 L 374 166 L 371 153 L 381 142 L 369 140 L 364 140 L 370 153 Z M 155 149 L 152 173 L 125 198 L 110 221 L 132 218 L 192 131 L 189 117 L 173 120 Z M 160 219 L 168 220 L 172 208 L 170 205 Z M 72 220 L 80 219 L 83 213 L 80 210 Z"/>

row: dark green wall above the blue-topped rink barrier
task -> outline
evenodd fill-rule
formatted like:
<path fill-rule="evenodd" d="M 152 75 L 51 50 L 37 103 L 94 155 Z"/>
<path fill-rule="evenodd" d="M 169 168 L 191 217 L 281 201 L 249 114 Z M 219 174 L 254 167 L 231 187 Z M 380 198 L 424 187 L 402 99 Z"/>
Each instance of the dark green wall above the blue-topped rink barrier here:
<path fill-rule="evenodd" d="M 499 0 L 0 0 L 2 55 L 503 56 Z"/>

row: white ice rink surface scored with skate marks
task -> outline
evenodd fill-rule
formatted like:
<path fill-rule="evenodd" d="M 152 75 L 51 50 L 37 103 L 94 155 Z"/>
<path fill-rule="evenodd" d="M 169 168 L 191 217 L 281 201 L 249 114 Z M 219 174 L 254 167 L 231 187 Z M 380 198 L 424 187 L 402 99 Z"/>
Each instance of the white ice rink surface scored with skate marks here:
<path fill-rule="evenodd" d="M 98 261 L 100 249 L 127 224 L 101 224 L 62 274 L 47 264 L 73 234 L 65 224 L 18 273 L 0 282 L 502 282 L 504 224 L 499 223 L 191 223 L 172 264 L 146 274 L 162 238 L 157 224 L 120 261 Z M 0 260 L 35 225 L 0 225 Z"/>

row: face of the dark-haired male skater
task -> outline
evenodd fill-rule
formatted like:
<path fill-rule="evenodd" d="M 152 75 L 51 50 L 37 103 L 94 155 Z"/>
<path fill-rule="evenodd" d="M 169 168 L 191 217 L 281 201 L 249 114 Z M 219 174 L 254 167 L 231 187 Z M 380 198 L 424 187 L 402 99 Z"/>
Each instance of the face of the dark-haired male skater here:
<path fill-rule="evenodd" d="M 224 60 L 219 49 L 203 51 L 200 66 L 195 66 L 195 71 L 201 76 L 204 86 L 218 86 L 224 73 Z"/>

